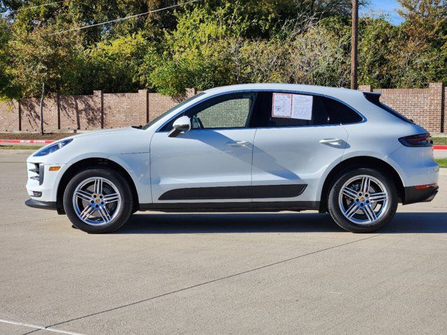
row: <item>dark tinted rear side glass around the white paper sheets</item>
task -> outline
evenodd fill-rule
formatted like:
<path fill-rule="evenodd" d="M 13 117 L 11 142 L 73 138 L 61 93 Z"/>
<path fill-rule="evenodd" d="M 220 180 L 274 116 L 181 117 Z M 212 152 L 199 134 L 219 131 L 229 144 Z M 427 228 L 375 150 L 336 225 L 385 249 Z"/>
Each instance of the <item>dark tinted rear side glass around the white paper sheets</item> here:
<path fill-rule="evenodd" d="M 310 120 L 272 117 L 272 96 L 273 92 L 258 92 L 249 124 L 251 128 L 324 126 L 362 121 L 362 117 L 350 107 L 325 96 L 313 96 Z"/>

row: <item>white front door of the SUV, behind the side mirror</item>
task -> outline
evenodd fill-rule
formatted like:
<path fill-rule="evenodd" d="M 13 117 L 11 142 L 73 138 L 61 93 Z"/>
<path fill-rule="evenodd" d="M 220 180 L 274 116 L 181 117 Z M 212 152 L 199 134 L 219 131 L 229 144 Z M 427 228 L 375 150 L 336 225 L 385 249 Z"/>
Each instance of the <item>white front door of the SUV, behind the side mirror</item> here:
<path fill-rule="evenodd" d="M 254 95 L 223 94 L 185 112 L 191 130 L 169 137 L 171 120 L 150 145 L 152 199 L 169 202 L 251 201 L 256 129 L 247 120 Z"/>

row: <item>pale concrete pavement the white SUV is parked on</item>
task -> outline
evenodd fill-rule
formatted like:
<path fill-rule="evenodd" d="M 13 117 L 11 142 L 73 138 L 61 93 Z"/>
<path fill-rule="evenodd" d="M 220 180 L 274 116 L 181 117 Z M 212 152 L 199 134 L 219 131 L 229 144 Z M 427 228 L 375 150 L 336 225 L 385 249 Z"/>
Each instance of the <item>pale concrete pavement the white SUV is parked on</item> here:
<path fill-rule="evenodd" d="M 374 234 L 309 211 L 91 235 L 24 206 L 27 155 L 0 152 L 0 334 L 446 334 L 445 170 Z"/>

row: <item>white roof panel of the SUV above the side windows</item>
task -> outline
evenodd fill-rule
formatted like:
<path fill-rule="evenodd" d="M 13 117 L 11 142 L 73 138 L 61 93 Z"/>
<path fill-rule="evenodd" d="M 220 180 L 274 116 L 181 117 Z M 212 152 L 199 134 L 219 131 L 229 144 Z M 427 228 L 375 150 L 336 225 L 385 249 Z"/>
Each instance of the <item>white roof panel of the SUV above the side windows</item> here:
<path fill-rule="evenodd" d="M 332 96 L 341 100 L 351 100 L 350 98 L 363 97 L 362 91 L 355 89 L 344 89 L 339 87 L 324 87 L 314 85 L 302 85 L 302 84 L 237 84 L 223 87 L 215 87 L 213 89 L 207 89 L 205 92 L 208 94 L 221 94 L 231 91 L 258 91 L 258 90 L 273 90 L 273 91 L 300 91 L 310 94 L 321 94 L 324 96 Z"/>

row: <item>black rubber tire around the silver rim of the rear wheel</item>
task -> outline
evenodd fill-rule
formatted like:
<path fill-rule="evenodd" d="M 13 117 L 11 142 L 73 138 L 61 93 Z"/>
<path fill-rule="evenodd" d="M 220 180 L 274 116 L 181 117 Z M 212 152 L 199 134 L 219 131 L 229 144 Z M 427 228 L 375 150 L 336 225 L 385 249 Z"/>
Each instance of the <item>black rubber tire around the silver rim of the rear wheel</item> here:
<path fill-rule="evenodd" d="M 350 179 L 360 175 L 368 175 L 378 179 L 379 181 L 381 181 L 382 185 L 388 192 L 388 206 L 385 210 L 383 210 L 383 214 L 379 217 L 379 219 L 377 219 L 373 223 L 358 224 L 352 222 L 351 220 L 346 218 L 346 216 L 344 216 L 339 205 L 339 194 L 342 190 L 342 186 Z M 395 215 L 397 210 L 397 198 L 396 186 L 393 183 L 393 180 L 390 179 L 387 174 L 374 168 L 353 168 L 350 170 L 344 170 L 343 172 L 338 174 L 337 177 L 334 178 L 332 186 L 330 188 L 330 193 L 328 195 L 328 211 L 330 213 L 330 216 L 332 216 L 332 219 L 344 230 L 348 230 L 349 232 L 375 232 L 376 230 L 379 230 L 388 225 L 388 223 L 390 223 L 390 221 L 393 219 L 393 216 Z M 360 200 L 361 199 L 352 201 Z M 346 210 L 346 212 L 348 212 L 348 210 Z M 359 213 L 361 214 L 365 212 L 359 211 Z"/>

